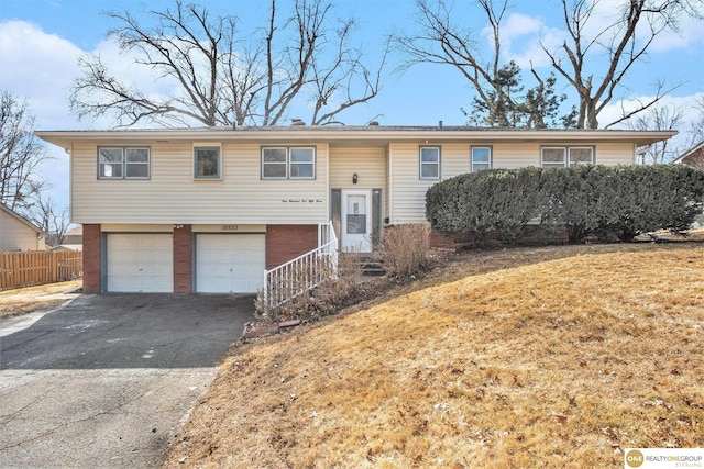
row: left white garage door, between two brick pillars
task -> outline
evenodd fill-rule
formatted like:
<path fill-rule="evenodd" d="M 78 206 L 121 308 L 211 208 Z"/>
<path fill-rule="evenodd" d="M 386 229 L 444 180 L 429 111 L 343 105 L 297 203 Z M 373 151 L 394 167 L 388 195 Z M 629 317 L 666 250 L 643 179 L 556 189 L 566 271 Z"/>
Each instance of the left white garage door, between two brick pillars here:
<path fill-rule="evenodd" d="M 108 234 L 108 291 L 173 292 L 173 235 Z"/>

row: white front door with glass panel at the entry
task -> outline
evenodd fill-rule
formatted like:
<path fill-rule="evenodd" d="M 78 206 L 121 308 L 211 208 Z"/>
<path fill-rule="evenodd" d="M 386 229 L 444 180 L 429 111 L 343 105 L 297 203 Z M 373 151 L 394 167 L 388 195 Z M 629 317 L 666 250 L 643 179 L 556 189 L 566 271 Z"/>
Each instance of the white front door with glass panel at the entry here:
<path fill-rule="evenodd" d="M 342 250 L 372 252 L 372 191 L 342 190 Z"/>

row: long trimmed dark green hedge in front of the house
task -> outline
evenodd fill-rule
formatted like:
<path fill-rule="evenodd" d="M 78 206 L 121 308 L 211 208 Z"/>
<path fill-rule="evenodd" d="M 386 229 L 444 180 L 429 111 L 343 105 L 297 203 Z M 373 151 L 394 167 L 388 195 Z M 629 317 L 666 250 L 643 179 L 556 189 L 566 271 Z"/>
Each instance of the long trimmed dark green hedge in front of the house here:
<path fill-rule="evenodd" d="M 426 216 L 433 228 L 516 243 L 531 220 L 563 227 L 569 241 L 686 231 L 704 208 L 704 171 L 684 166 L 494 169 L 432 186 Z"/>

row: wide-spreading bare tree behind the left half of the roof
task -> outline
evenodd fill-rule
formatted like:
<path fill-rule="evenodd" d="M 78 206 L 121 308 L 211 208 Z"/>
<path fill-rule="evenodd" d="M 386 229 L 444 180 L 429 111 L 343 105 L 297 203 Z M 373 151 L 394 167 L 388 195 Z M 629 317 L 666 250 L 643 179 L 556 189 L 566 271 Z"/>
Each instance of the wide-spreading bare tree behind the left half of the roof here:
<path fill-rule="evenodd" d="M 320 125 L 376 97 L 388 46 L 370 68 L 361 46 L 351 44 L 354 22 L 334 20 L 331 3 L 296 0 L 284 18 L 277 7 L 271 0 L 266 25 L 245 32 L 234 16 L 211 18 L 205 7 L 180 1 L 151 11 L 144 23 L 130 12 L 108 13 L 119 23 L 108 34 L 120 49 L 178 91 L 148 96 L 112 75 L 99 56 L 84 57 L 72 110 L 80 118 L 113 115 L 117 126 L 276 125 L 306 103 L 314 109 L 310 123 Z"/>

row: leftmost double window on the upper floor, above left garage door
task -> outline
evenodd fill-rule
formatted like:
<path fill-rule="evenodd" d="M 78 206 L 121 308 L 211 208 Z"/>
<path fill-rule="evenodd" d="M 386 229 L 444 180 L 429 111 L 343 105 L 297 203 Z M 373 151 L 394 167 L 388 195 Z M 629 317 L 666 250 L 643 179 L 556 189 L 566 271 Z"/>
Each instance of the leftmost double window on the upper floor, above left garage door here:
<path fill-rule="evenodd" d="M 151 153 L 146 147 L 98 148 L 99 179 L 148 179 Z"/>

